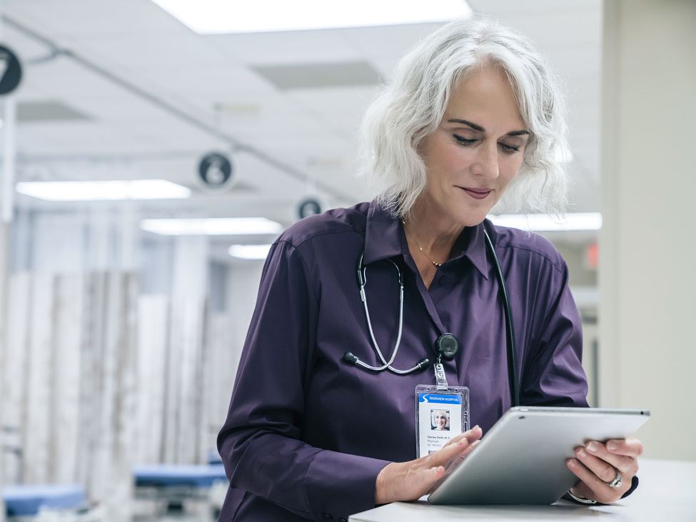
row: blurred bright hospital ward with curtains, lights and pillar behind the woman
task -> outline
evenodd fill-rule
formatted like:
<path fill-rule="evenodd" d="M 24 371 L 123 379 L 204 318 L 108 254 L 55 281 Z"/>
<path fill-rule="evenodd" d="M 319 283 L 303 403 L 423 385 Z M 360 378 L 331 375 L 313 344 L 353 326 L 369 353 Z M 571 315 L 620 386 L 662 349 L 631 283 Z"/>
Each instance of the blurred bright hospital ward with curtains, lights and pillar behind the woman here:
<path fill-rule="evenodd" d="M 568 262 L 590 404 L 650 408 L 646 456 L 696 460 L 696 3 L 292 4 L 0 1 L 8 513 L 216 516 L 215 437 L 268 245 L 373 196 L 363 111 L 405 51 L 472 12 L 529 36 L 570 96 L 568 219 L 492 218 Z M 57 486 L 11 508 L 37 485 Z"/>

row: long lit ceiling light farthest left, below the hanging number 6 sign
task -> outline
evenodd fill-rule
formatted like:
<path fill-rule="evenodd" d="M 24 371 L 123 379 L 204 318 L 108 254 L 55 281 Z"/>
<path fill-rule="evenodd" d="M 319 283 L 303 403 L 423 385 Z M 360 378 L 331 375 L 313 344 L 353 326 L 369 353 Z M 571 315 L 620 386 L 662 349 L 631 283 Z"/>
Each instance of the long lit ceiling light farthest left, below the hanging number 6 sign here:
<path fill-rule="evenodd" d="M 124 181 L 23 181 L 19 194 L 46 201 L 118 201 L 123 199 L 186 199 L 191 190 L 166 179 Z"/>

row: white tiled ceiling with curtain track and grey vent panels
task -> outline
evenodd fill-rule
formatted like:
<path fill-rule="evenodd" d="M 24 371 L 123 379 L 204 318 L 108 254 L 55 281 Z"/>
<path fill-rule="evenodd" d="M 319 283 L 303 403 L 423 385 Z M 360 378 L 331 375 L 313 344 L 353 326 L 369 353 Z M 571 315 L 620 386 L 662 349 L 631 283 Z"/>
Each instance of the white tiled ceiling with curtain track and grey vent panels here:
<path fill-rule="evenodd" d="M 601 0 L 470 0 L 527 34 L 568 85 L 573 211 L 597 211 Z M 360 117 L 395 63 L 438 24 L 201 36 L 151 0 L 4 0 L 2 40 L 24 64 L 18 181 L 168 179 L 193 197 L 143 217 L 293 221 L 316 190 L 368 199 Z M 233 154 L 239 183 L 205 194 L 196 165 Z M 23 209 L 75 209 L 18 195 Z M 116 204 L 111 204 L 116 205 Z"/>

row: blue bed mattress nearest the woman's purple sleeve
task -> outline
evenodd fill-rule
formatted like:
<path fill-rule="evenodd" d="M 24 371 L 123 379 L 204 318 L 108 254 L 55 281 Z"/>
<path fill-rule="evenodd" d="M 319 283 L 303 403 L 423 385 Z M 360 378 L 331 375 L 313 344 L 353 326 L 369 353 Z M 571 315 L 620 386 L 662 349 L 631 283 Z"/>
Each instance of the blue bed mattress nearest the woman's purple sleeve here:
<path fill-rule="evenodd" d="M 227 481 L 222 464 L 188 466 L 184 464 L 148 464 L 133 468 L 136 486 L 190 486 L 209 488 L 215 481 Z"/>

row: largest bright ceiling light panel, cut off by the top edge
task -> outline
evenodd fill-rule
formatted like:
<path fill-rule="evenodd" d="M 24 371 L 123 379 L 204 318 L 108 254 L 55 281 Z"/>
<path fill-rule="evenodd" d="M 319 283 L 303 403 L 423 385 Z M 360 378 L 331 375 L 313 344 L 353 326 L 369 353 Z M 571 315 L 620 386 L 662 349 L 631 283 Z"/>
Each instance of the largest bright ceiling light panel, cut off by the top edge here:
<path fill-rule="evenodd" d="M 464 0 L 152 0 L 198 34 L 260 33 L 449 21 Z"/>

